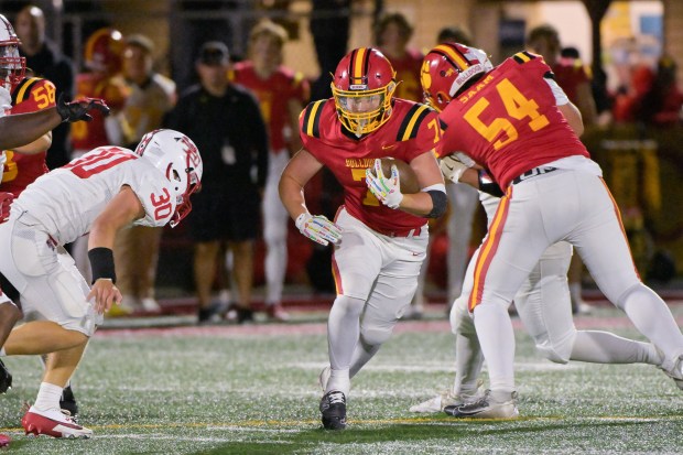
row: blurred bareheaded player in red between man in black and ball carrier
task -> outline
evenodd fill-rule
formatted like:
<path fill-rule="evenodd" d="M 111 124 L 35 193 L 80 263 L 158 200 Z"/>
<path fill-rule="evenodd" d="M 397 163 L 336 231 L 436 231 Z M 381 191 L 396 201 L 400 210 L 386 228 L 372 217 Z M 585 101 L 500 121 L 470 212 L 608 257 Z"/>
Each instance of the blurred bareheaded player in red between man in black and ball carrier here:
<path fill-rule="evenodd" d="M 263 240 L 265 241 L 265 305 L 269 317 L 286 321 L 282 308 L 282 288 L 288 263 L 288 213 L 278 196 L 280 174 L 289 150 L 299 150 L 299 113 L 308 100 L 308 82 L 300 72 L 282 66 L 282 47 L 288 40 L 284 28 L 271 21 L 258 23 L 249 36 L 249 59 L 238 62 L 231 78 L 257 96 L 268 123 L 268 181 L 263 191 Z"/>

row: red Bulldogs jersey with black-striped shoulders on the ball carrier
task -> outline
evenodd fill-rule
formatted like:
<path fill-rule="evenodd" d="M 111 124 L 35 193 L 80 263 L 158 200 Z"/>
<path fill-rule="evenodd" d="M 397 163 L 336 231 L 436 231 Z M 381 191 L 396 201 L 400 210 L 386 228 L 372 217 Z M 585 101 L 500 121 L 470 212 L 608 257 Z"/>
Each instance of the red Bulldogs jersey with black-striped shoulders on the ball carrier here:
<path fill-rule="evenodd" d="M 342 184 L 344 204 L 353 217 L 378 232 L 424 226 L 425 218 L 381 204 L 368 189 L 366 169 L 375 164 L 376 158 L 391 156 L 410 163 L 430 153 L 441 137 L 436 112 L 425 105 L 394 98 L 389 120 L 357 138 L 342 126 L 330 98 L 311 102 L 299 122 L 304 148 Z"/>

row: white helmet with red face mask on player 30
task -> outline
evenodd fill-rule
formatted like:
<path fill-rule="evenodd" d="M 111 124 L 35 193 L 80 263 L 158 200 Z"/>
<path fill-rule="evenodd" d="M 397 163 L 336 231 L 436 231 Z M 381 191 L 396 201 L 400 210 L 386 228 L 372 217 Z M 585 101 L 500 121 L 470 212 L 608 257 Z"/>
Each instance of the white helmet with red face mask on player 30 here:
<path fill-rule="evenodd" d="M 189 195 L 202 186 L 202 156 L 195 143 L 174 130 L 154 130 L 142 137 L 135 153 L 149 160 L 173 184 L 176 205 L 169 223 L 177 226 L 192 210 Z"/>

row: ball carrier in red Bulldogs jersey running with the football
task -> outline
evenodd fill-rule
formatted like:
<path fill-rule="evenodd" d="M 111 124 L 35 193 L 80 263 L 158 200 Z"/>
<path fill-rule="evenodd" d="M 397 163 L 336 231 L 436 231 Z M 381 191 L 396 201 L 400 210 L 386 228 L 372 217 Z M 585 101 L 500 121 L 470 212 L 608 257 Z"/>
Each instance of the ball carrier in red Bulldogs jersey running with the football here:
<path fill-rule="evenodd" d="M 395 85 L 393 68 L 378 50 L 347 54 L 334 74 L 334 97 L 311 102 L 301 113 L 303 149 L 280 180 L 280 197 L 300 231 L 335 247 L 329 367 L 321 373 L 321 412 L 329 430 L 346 426 L 350 378 L 391 336 L 410 304 L 429 241 L 426 220 L 446 209 L 432 153 L 441 136 L 436 113 L 393 98 Z M 387 156 L 409 163 L 422 191 L 402 194 L 395 166 L 392 175 L 382 174 L 381 163 L 377 169 L 377 159 Z M 304 186 L 324 166 L 344 187 L 334 223 L 308 213 L 304 197 Z"/>

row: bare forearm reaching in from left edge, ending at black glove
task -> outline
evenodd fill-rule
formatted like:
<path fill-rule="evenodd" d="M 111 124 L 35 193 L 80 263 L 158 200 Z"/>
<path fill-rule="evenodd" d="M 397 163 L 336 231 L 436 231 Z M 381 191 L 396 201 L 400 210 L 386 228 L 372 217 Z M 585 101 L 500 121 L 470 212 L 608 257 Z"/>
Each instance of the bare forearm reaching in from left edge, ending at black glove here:
<path fill-rule="evenodd" d="M 31 113 L 0 118 L 0 149 L 9 150 L 35 141 L 62 123 L 57 109 L 52 107 Z"/>

